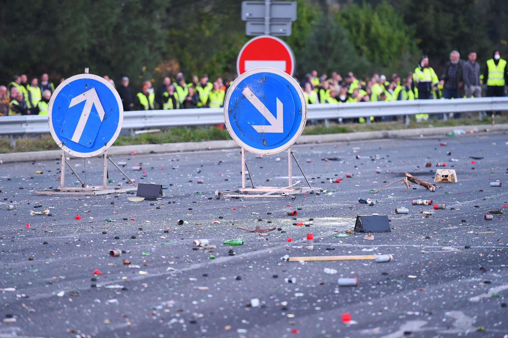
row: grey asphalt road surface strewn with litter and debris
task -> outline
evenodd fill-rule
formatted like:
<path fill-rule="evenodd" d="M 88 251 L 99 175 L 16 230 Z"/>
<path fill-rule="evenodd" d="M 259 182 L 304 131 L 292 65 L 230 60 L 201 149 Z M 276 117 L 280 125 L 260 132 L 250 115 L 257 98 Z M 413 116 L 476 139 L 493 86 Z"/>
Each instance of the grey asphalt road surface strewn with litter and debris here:
<path fill-rule="evenodd" d="M 484 215 L 508 205 L 507 141 L 507 134 L 483 133 L 294 147 L 311 185 L 327 189 L 295 200 L 217 200 L 215 190 L 240 185 L 239 149 L 115 156 L 138 183 L 163 184 L 160 201 L 132 202 L 127 193 L 36 195 L 59 184 L 59 161 L 4 163 L 0 337 L 506 337 L 508 216 Z M 483 158 L 472 164 L 470 156 Z M 342 161 L 323 160 L 334 157 Z M 247 160 L 255 184 L 287 185 L 287 153 Z M 369 192 L 404 172 L 433 182 L 438 161 L 457 171 L 458 183 L 430 192 L 398 182 Z M 86 168 L 88 184 L 101 184 L 100 159 L 70 164 L 83 177 Z M 109 174 L 113 185 L 125 182 L 116 169 Z M 296 166 L 293 175 L 301 179 Z M 336 178 L 341 182 L 329 182 Z M 502 187 L 490 186 L 496 180 Z M 66 183 L 78 181 L 68 174 Z M 359 197 L 377 202 L 359 204 Z M 420 211 L 432 208 L 412 199 L 446 209 L 426 216 Z M 395 214 L 400 207 L 409 213 Z M 51 216 L 30 216 L 46 209 Z M 298 215 L 287 216 L 290 210 Z M 346 233 L 357 215 L 373 213 L 388 215 L 391 232 L 373 233 L 371 241 Z M 310 218 L 308 227 L 293 225 Z M 257 225 L 278 229 L 237 229 Z M 223 244 L 236 238 L 244 244 Z M 196 239 L 216 248 L 194 250 Z M 112 257 L 110 249 L 124 253 Z M 281 260 L 375 254 L 394 260 Z M 358 286 L 339 286 L 338 278 L 358 278 Z"/>

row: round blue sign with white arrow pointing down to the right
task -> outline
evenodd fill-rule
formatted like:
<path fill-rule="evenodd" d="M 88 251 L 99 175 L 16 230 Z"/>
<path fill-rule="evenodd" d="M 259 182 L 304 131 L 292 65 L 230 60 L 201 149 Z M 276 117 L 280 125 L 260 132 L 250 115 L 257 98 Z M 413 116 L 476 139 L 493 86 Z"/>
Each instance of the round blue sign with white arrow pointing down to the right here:
<path fill-rule="evenodd" d="M 244 149 L 270 155 L 291 147 L 307 119 L 302 88 L 285 72 L 258 68 L 240 75 L 224 103 L 231 137 Z"/>

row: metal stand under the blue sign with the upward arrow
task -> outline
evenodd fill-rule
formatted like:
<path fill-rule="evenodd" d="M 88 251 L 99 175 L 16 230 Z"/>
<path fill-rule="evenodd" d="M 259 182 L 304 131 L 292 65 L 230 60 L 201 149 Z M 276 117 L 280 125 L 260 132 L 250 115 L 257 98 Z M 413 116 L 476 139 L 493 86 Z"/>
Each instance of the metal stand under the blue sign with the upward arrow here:
<path fill-rule="evenodd" d="M 102 186 L 91 186 L 87 187 L 85 182 L 81 180 L 78 174 L 74 171 L 72 166 L 67 162 L 66 153 L 62 150 L 62 160 L 61 160 L 61 175 L 60 175 L 60 187 L 54 189 L 44 189 L 44 190 L 36 190 L 34 193 L 36 194 L 45 194 L 45 195 L 105 195 L 119 192 L 127 192 L 133 191 L 138 188 L 136 183 L 129 177 L 127 174 L 120 169 L 118 165 L 108 156 L 108 151 L 106 150 L 103 154 L 104 158 L 104 177 L 103 177 L 103 185 Z M 134 187 L 121 187 L 121 186 L 108 186 L 108 160 L 113 163 L 113 165 L 122 173 L 123 176 L 127 179 L 127 184 L 132 184 Z M 81 182 L 81 187 L 66 187 L 65 186 L 65 171 L 66 171 L 66 163 L 71 169 L 72 173 L 76 175 L 79 182 Z"/>

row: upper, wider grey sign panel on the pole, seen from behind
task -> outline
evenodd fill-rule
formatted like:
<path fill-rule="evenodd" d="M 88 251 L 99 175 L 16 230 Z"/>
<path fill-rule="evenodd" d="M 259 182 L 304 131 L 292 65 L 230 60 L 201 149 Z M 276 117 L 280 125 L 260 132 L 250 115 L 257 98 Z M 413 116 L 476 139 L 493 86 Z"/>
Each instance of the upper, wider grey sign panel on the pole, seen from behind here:
<path fill-rule="evenodd" d="M 264 20 L 264 1 L 243 1 L 242 20 Z M 296 1 L 270 1 L 270 19 L 282 21 L 296 20 Z"/>

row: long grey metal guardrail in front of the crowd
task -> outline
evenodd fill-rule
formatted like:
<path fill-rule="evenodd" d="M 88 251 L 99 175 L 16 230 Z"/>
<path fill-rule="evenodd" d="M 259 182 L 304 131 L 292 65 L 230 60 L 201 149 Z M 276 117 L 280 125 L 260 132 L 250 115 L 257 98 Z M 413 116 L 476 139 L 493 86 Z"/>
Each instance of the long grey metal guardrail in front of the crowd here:
<path fill-rule="evenodd" d="M 308 105 L 307 120 L 505 110 L 508 97 L 316 104 Z M 132 111 L 123 113 L 122 130 L 221 123 L 224 123 L 222 108 Z M 45 133 L 49 133 L 45 115 L 0 117 L 0 135 Z"/>

